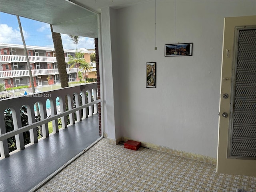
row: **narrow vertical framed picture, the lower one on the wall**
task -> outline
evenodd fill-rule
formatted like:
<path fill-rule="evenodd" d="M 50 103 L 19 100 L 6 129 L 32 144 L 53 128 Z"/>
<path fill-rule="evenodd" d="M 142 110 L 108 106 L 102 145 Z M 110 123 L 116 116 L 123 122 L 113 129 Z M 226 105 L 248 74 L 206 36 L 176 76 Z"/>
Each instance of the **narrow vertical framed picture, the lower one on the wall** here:
<path fill-rule="evenodd" d="M 146 63 L 146 87 L 156 88 L 156 62 Z"/>

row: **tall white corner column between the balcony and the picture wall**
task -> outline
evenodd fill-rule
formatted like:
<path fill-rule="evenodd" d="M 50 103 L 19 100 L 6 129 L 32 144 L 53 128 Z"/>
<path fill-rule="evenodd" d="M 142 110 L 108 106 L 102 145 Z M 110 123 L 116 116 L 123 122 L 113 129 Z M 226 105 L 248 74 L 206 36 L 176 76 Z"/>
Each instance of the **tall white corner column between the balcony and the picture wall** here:
<path fill-rule="evenodd" d="M 108 139 L 113 144 L 117 144 L 121 138 L 120 112 L 118 100 L 118 60 L 115 50 L 117 49 L 116 34 L 116 10 L 103 8 L 101 12 L 102 20 L 102 63 L 103 63 L 103 84 L 104 84 L 104 128 L 108 134 Z M 113 54 L 112 54 L 113 52 Z M 117 81 L 115 82 L 114 79 Z M 116 88 L 116 89 L 115 89 Z M 115 92 L 116 90 L 116 92 Z"/>

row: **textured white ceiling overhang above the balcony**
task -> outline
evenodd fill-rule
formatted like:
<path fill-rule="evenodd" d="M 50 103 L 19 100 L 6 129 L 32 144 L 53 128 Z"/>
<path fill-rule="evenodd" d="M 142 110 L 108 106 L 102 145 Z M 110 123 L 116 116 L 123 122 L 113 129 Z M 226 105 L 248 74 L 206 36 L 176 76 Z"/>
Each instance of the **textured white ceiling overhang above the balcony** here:
<path fill-rule="evenodd" d="M 0 0 L 0 11 L 52 24 L 54 32 L 98 37 L 102 8 L 122 8 L 137 0 Z"/>

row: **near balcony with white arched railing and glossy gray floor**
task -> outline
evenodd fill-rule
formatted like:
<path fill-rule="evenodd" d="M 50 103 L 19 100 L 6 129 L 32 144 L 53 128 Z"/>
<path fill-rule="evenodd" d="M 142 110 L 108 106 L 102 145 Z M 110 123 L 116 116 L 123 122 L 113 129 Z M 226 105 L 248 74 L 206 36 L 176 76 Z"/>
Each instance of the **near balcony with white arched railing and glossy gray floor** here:
<path fill-rule="evenodd" d="M 0 100 L 0 191 L 28 191 L 101 138 L 98 103 L 102 99 L 96 100 L 96 93 L 97 83 L 92 83 Z M 36 103 L 41 117 L 38 122 Z M 28 125 L 23 127 L 22 106 L 26 107 L 28 116 Z M 6 132 L 6 109 L 12 114 L 14 130 L 10 132 Z M 51 134 L 48 123 L 52 124 Z M 38 126 L 42 133 L 40 139 Z M 25 145 L 23 133 L 27 131 L 30 143 Z M 17 149 L 9 152 L 8 139 L 12 137 Z M 28 184 L 23 178 L 28 179 Z"/>

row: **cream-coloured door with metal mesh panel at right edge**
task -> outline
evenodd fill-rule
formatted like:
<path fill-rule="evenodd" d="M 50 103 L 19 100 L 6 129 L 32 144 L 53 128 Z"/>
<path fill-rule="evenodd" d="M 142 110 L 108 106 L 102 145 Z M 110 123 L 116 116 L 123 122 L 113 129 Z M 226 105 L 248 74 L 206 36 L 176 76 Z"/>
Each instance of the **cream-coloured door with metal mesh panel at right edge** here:
<path fill-rule="evenodd" d="M 256 176 L 256 16 L 224 20 L 217 172 Z"/>

